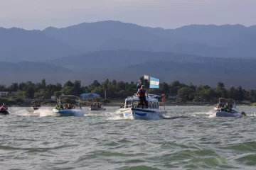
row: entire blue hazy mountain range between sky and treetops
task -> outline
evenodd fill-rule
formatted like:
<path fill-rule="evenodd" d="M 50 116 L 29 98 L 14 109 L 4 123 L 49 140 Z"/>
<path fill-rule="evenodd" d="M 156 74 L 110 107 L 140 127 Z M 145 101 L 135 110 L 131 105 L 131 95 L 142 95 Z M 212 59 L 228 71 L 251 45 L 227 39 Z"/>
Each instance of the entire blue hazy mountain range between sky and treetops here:
<path fill-rule="evenodd" d="M 43 78 L 136 81 L 150 74 L 167 82 L 253 88 L 255 47 L 256 26 L 163 29 L 101 21 L 44 30 L 0 28 L 0 72 L 8 75 L 0 84 Z"/>

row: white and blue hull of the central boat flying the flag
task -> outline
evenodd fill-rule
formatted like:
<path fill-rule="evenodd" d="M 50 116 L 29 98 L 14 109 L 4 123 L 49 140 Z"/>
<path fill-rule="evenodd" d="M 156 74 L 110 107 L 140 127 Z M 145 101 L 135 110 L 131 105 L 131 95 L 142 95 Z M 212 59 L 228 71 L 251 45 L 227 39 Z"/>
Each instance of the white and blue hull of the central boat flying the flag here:
<path fill-rule="evenodd" d="M 131 118 L 135 120 L 159 120 L 164 118 L 164 114 L 167 113 L 167 111 L 156 111 L 146 108 L 120 109 L 119 112 L 124 115 L 124 118 Z"/>

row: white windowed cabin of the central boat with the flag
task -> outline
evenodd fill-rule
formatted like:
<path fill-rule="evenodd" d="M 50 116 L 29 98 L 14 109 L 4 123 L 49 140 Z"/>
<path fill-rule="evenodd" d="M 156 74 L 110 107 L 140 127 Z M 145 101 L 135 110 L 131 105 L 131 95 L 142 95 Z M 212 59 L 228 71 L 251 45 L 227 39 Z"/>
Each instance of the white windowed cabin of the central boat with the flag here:
<path fill-rule="evenodd" d="M 156 98 L 146 98 L 146 101 L 150 109 L 159 109 L 159 102 Z M 138 97 L 128 97 L 125 99 L 124 108 L 142 108 L 139 103 Z"/>

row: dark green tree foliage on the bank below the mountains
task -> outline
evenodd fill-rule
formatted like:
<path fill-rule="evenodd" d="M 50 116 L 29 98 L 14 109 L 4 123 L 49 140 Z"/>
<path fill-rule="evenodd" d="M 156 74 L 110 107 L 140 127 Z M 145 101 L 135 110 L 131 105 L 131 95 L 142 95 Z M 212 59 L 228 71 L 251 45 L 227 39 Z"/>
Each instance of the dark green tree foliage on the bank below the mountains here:
<path fill-rule="evenodd" d="M 142 80 L 142 78 L 141 78 Z M 143 82 L 143 81 L 142 81 Z M 145 86 L 149 87 L 149 82 L 145 80 Z M 32 81 L 22 82 L 20 84 L 13 83 L 11 86 L 0 84 L 0 91 L 9 91 L 9 101 L 21 102 L 23 99 L 50 99 L 51 96 L 60 96 L 61 94 L 80 96 L 83 93 L 100 94 L 102 98 L 107 99 L 124 99 L 137 93 L 137 82 L 124 82 L 106 79 L 100 83 L 95 80 L 89 86 L 82 86 L 81 81 L 67 81 L 65 84 L 46 84 L 46 80 L 33 83 Z M 245 90 L 242 86 L 226 89 L 221 82 L 214 88 L 208 85 L 196 86 L 193 84 L 183 84 L 179 81 L 167 84 L 160 84 L 159 89 L 150 89 L 151 94 L 166 94 L 167 96 L 176 96 L 177 102 L 193 101 L 198 102 L 215 102 L 217 98 L 233 98 L 235 101 L 256 102 L 256 90 Z M 1 102 L 5 99 L 1 99 Z M 20 101 L 17 101 L 20 100 Z M 110 102 L 110 101 L 105 101 Z"/>

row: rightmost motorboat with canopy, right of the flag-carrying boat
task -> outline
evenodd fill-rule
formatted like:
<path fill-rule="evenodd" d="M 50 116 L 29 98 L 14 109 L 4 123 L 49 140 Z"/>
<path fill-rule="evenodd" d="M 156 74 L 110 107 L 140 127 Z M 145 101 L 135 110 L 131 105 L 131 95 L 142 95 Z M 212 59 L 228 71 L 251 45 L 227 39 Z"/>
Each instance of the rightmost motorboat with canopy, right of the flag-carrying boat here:
<path fill-rule="evenodd" d="M 230 106 L 232 106 L 231 111 L 220 111 L 220 108 L 225 106 L 226 103 L 229 103 Z M 239 111 L 238 108 L 236 108 L 235 100 L 232 98 L 218 98 L 218 103 L 215 106 L 214 111 L 216 111 L 216 117 L 238 117 L 246 115 L 245 112 Z"/>

